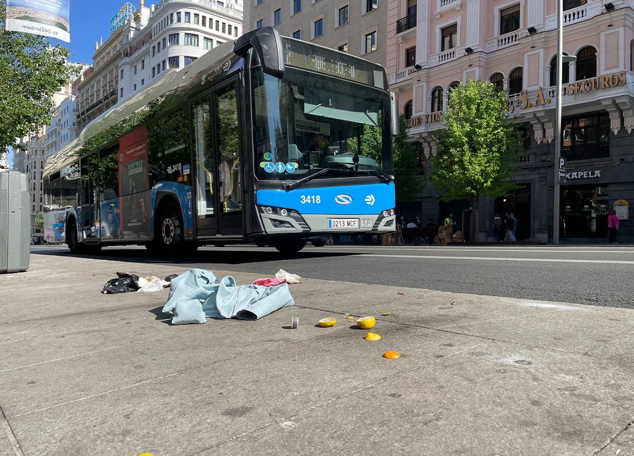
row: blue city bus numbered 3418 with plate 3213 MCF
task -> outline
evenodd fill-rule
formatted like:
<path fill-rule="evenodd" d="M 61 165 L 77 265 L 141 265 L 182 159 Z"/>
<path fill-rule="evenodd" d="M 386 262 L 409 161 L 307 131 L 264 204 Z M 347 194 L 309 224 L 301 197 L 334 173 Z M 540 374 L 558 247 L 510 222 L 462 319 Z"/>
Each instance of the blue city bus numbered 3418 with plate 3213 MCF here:
<path fill-rule="evenodd" d="M 115 105 L 51 156 L 44 238 L 174 254 L 394 231 L 385 68 L 273 28 Z"/>

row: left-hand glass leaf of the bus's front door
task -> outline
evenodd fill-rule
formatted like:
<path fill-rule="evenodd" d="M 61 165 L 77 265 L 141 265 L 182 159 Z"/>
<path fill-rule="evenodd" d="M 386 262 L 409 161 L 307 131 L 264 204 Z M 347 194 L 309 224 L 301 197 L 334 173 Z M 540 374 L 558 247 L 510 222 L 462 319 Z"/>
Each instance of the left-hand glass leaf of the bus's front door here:
<path fill-rule="evenodd" d="M 192 106 L 194 143 L 194 198 L 197 236 L 216 234 L 214 206 L 214 150 L 211 147 L 210 99 L 205 97 Z"/>

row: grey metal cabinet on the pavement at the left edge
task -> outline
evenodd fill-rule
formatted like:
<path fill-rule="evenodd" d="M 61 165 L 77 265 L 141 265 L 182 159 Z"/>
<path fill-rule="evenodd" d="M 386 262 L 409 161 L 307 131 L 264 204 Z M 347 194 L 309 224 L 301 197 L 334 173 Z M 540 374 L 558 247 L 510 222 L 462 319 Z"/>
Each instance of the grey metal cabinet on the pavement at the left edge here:
<path fill-rule="evenodd" d="M 29 196 L 26 174 L 0 170 L 0 273 L 29 269 Z"/>

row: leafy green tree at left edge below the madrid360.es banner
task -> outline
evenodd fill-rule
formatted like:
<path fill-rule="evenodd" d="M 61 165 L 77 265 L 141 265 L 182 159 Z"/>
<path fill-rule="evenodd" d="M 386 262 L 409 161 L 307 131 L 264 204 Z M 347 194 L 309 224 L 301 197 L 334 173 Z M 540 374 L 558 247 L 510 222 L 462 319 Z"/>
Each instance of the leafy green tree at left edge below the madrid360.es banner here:
<path fill-rule="evenodd" d="M 0 151 L 34 133 L 53 117 L 52 96 L 77 72 L 68 50 L 39 35 L 7 32 L 6 1 L 0 0 Z"/>

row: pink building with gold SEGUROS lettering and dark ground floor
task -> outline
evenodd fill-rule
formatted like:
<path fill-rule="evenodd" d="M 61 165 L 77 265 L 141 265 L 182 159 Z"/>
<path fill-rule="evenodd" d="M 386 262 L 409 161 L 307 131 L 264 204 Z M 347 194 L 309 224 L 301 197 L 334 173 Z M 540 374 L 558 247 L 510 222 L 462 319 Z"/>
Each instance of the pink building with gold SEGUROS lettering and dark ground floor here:
<path fill-rule="evenodd" d="M 615 203 L 634 205 L 634 0 L 562 0 L 560 239 L 605 242 Z M 548 0 L 390 0 L 387 72 L 422 161 L 451 87 L 488 79 L 508 93 L 509 118 L 526 132 L 526 155 L 507 198 L 478 202 L 479 240 L 492 239 L 494 212 L 513 212 L 518 239 L 552 241 L 557 3 Z M 425 169 L 429 173 L 429 168 Z M 417 210 L 458 219 L 469 201 L 442 203 L 430 182 Z M 410 208 L 413 209 L 413 208 Z M 619 210 L 622 210 L 619 207 Z M 628 213 L 629 215 L 629 213 Z M 633 215 L 634 217 L 634 215 Z M 634 242 L 621 220 L 619 240 Z"/>

